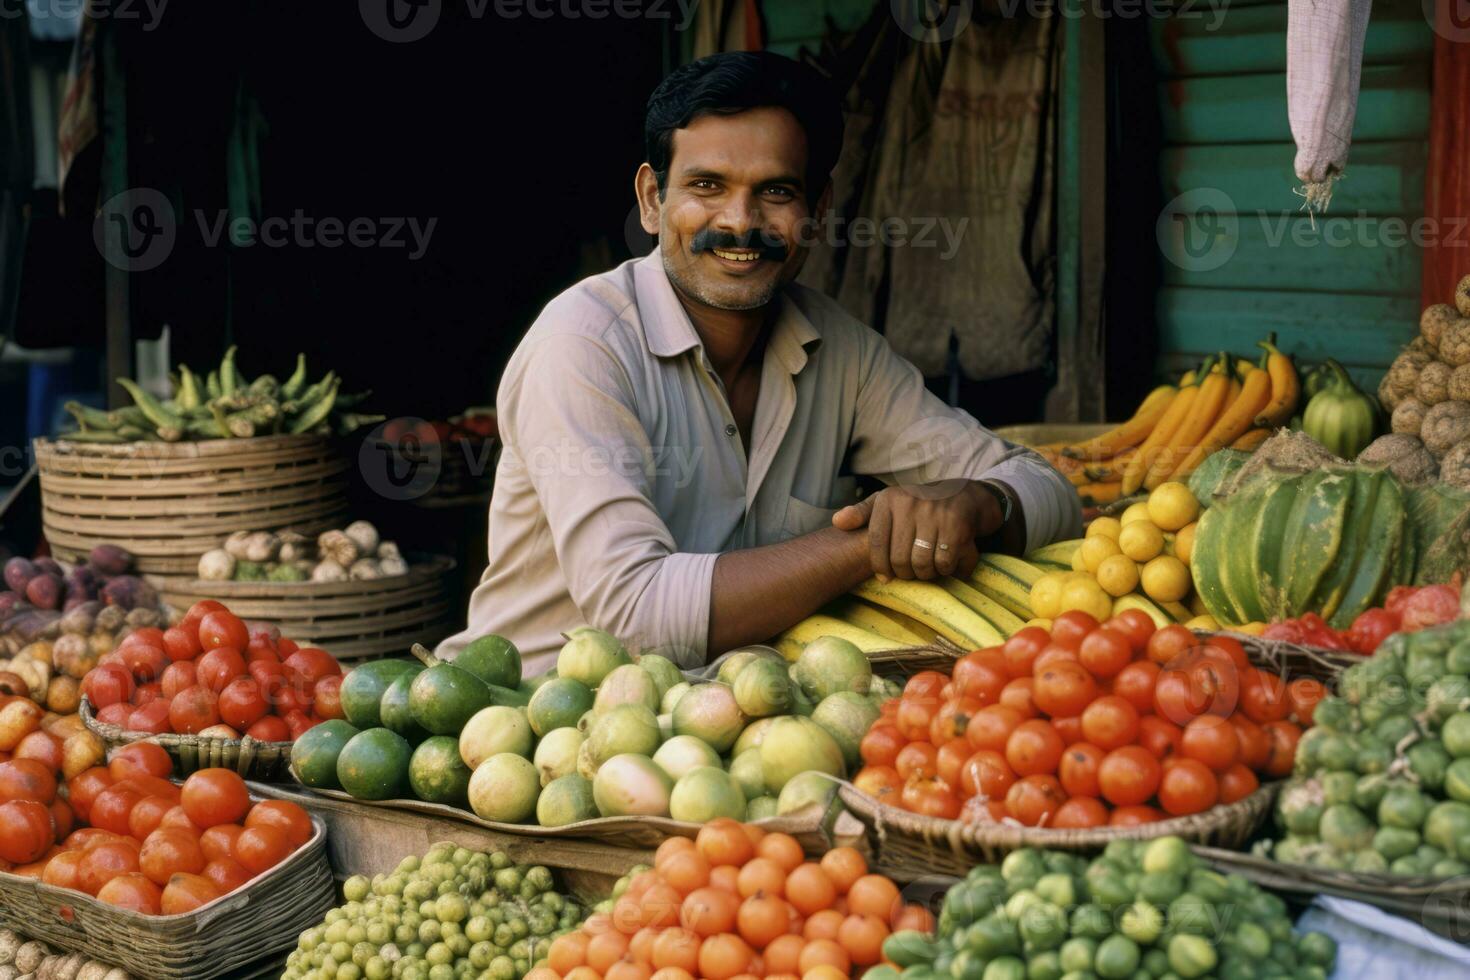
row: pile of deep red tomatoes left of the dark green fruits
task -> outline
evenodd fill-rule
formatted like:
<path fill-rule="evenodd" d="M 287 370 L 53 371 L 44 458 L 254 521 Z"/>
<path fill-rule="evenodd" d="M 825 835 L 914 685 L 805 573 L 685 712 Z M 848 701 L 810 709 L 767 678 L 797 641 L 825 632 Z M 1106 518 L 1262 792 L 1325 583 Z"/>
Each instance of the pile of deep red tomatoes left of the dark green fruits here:
<path fill-rule="evenodd" d="M 293 742 L 343 717 L 341 685 L 325 649 L 203 599 L 176 626 L 128 633 L 87 671 L 82 693 L 98 721 L 128 732 Z"/>

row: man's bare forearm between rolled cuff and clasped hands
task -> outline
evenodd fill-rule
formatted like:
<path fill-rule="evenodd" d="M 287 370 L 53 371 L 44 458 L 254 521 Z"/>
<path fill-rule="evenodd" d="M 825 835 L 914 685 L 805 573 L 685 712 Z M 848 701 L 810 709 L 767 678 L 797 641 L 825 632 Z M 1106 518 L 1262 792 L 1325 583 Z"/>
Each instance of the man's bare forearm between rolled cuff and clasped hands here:
<path fill-rule="evenodd" d="M 770 639 L 872 573 L 861 530 L 823 527 L 722 554 L 710 586 L 710 657 Z"/>

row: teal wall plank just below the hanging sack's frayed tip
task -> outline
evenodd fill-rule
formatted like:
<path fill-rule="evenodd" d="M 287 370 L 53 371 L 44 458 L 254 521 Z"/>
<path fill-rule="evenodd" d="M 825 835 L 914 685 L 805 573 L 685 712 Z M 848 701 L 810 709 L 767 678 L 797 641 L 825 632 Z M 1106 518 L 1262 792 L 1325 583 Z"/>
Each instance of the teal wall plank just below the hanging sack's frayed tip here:
<path fill-rule="evenodd" d="M 1419 294 L 1423 254 L 1401 217 L 1329 213 L 1314 228 L 1298 212 L 1222 216 L 1205 206 L 1161 226 L 1164 285 Z"/>

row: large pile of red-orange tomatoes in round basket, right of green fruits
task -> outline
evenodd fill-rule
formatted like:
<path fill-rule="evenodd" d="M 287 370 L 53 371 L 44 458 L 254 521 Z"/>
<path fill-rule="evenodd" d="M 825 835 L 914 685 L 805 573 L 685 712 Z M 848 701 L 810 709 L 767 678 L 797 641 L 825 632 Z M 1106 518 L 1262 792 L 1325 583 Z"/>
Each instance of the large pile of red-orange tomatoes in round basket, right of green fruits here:
<path fill-rule="evenodd" d="M 1129 610 L 1058 616 L 910 677 L 854 783 L 929 817 L 1098 827 L 1197 814 L 1288 776 L 1326 689 Z"/>

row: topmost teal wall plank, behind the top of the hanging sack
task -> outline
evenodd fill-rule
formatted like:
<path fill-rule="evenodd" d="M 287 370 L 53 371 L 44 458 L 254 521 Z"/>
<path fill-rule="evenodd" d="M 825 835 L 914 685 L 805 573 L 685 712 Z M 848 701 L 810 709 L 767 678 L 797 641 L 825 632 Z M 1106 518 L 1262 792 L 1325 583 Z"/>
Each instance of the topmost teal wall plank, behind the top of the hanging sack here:
<path fill-rule="evenodd" d="M 1167 76 L 1286 71 L 1286 4 L 1238 9 L 1198 3 L 1150 21 L 1154 63 Z M 1420 0 L 1379 0 L 1363 44 L 1364 65 L 1427 60 L 1435 34 Z"/>

